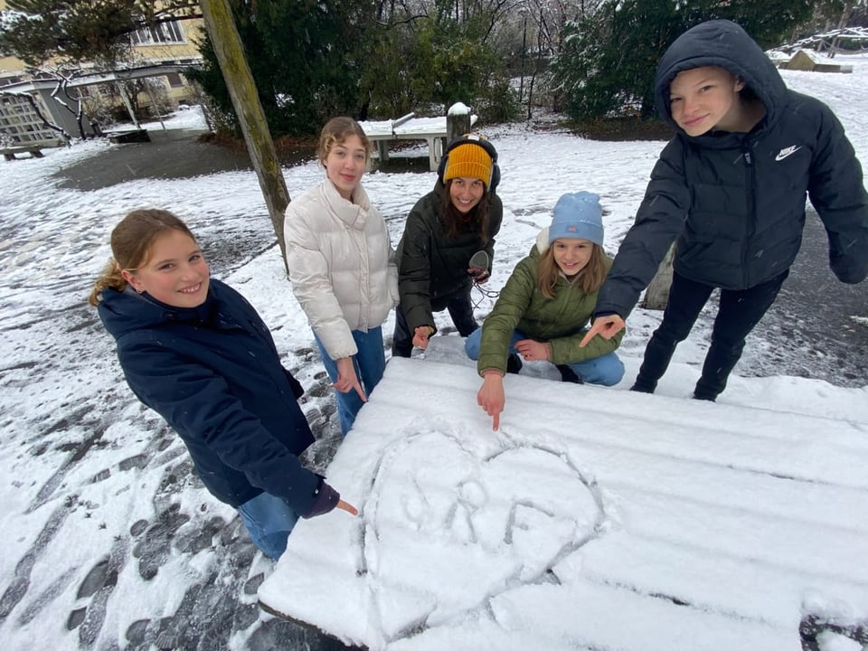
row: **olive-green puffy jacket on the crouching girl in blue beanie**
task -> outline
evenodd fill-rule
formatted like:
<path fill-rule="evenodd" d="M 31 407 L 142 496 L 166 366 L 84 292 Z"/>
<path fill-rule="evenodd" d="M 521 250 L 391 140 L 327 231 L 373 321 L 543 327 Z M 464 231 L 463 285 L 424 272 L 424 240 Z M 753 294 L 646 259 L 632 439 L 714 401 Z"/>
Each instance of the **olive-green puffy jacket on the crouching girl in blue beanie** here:
<path fill-rule="evenodd" d="M 548 230 L 545 230 L 540 233 L 530 255 L 515 265 L 494 309 L 486 316 L 476 363 L 480 375 L 492 369 L 506 372 L 507 349 L 514 330 L 520 330 L 528 339 L 550 344 L 550 361 L 555 364 L 601 357 L 621 344 L 623 330 L 608 340 L 596 336 L 587 346 L 580 347 L 597 305 L 598 292 L 586 294 L 579 283 L 571 283 L 561 276 L 555 284 L 554 297 L 545 297 L 537 277 L 540 258 L 547 248 Z M 611 266 L 612 261 L 606 256 L 607 269 Z"/>

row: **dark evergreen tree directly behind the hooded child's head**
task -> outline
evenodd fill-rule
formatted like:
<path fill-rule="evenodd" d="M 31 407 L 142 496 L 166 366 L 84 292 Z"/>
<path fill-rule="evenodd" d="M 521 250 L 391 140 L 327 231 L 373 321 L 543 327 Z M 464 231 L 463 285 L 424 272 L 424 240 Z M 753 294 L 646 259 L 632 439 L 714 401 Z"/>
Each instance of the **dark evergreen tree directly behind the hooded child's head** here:
<path fill-rule="evenodd" d="M 811 0 L 604 0 L 566 24 L 555 75 L 573 119 L 655 115 L 657 61 L 695 24 L 726 18 L 764 47 L 812 15 Z M 774 20 L 769 20 L 774 16 Z"/>

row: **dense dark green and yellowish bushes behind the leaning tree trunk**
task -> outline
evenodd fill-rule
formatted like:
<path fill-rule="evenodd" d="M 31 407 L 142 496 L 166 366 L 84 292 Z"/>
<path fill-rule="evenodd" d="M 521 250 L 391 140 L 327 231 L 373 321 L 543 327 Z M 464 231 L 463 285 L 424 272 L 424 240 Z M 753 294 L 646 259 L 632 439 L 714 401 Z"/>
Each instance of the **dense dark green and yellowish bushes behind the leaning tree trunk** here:
<path fill-rule="evenodd" d="M 328 118 L 442 115 L 463 101 L 486 121 L 512 119 L 517 96 L 496 47 L 503 0 L 233 0 L 233 12 L 275 137 L 314 135 Z M 234 127 L 212 48 L 190 71 Z"/>

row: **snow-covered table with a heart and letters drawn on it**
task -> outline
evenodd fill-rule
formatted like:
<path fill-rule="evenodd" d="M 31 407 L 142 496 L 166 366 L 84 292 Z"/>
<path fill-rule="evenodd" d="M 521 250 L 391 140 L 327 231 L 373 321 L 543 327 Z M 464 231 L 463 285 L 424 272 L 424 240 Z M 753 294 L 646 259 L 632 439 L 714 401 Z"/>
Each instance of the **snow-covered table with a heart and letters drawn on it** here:
<path fill-rule="evenodd" d="M 492 432 L 479 382 L 390 361 L 329 469 L 360 515 L 298 524 L 264 608 L 408 651 L 796 651 L 868 619 L 868 421 L 509 375 Z"/>

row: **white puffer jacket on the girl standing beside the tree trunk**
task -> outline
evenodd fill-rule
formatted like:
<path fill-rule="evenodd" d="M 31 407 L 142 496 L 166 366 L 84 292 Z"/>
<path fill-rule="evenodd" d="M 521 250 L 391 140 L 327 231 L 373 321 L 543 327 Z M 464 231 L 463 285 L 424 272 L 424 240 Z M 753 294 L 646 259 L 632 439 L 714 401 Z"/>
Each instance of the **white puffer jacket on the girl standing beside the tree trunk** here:
<path fill-rule="evenodd" d="M 398 271 L 382 215 L 356 186 L 353 203 L 325 179 L 289 203 L 289 280 L 332 359 L 356 354 L 351 331 L 382 325 L 398 304 Z"/>

